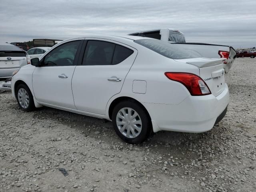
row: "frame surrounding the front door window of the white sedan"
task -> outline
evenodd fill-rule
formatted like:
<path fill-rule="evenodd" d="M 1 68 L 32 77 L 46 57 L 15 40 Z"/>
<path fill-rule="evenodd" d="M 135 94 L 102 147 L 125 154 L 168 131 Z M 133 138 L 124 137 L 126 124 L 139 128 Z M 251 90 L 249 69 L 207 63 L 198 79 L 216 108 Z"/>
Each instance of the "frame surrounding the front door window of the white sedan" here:
<path fill-rule="evenodd" d="M 44 63 L 44 59 L 46 58 L 46 56 L 48 54 L 50 54 L 53 50 L 55 50 L 59 46 L 62 46 L 64 44 L 74 42 L 74 41 L 80 41 L 80 44 L 78 45 L 73 64 L 70 64 L 70 65 L 42 65 L 42 63 Z M 84 38 L 79 38 L 79 39 L 68 40 L 68 41 L 62 42 L 61 44 L 58 44 L 58 46 L 54 47 L 50 52 L 47 52 L 47 54 L 44 55 L 44 57 L 40 60 L 40 64 L 38 67 L 58 67 L 58 66 L 76 66 L 76 65 L 78 65 L 78 58 L 80 56 L 80 52 L 81 52 L 83 43 L 84 43 Z"/>

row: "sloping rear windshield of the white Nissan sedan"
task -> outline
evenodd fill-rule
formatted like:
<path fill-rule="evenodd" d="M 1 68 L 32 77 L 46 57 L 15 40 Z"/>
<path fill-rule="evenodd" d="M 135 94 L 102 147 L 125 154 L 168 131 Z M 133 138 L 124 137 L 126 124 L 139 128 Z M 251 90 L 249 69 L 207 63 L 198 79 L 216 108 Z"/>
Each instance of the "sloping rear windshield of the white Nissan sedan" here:
<path fill-rule="evenodd" d="M 177 45 L 154 39 L 140 39 L 134 42 L 170 59 L 190 59 L 200 56 L 189 52 Z"/>

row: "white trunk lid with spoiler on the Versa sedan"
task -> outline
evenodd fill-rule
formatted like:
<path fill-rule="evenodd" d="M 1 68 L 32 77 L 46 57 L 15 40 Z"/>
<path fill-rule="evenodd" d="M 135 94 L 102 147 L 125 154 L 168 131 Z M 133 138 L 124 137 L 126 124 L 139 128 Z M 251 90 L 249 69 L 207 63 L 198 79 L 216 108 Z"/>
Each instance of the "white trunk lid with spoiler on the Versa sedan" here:
<path fill-rule="evenodd" d="M 200 77 L 214 96 L 218 96 L 224 90 L 225 70 L 223 62 L 226 59 L 192 58 L 176 61 L 197 66 L 200 70 Z"/>

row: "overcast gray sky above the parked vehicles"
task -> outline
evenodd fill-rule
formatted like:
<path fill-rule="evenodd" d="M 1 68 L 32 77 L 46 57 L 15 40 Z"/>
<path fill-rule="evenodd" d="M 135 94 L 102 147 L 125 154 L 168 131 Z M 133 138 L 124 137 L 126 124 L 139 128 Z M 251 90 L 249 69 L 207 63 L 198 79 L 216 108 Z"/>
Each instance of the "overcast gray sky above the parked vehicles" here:
<path fill-rule="evenodd" d="M 176 28 L 186 42 L 256 46 L 256 0 L 1 0 L 0 42 Z"/>

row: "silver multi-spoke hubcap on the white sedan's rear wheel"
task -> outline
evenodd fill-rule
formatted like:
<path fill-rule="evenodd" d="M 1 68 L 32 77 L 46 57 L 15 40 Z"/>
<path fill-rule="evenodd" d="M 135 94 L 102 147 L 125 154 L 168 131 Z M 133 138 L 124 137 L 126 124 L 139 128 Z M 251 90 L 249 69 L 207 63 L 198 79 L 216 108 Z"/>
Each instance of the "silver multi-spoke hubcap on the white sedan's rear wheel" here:
<path fill-rule="evenodd" d="M 142 129 L 142 122 L 139 114 L 132 108 L 122 108 L 116 115 L 118 130 L 128 138 L 137 137 Z"/>

